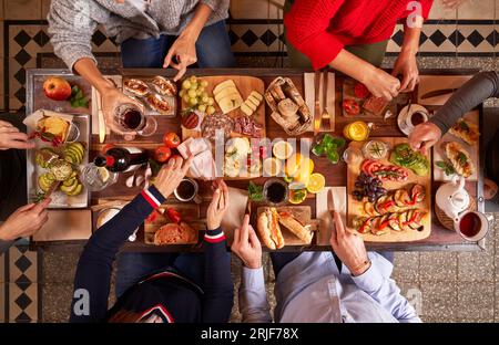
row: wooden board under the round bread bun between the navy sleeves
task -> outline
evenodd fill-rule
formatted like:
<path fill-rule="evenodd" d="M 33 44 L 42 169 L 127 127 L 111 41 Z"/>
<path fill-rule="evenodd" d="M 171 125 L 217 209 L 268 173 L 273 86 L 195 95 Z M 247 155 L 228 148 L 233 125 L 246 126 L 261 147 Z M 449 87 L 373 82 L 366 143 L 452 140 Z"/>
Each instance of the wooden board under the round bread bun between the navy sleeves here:
<path fill-rule="evenodd" d="M 176 203 L 176 205 L 167 205 L 161 206 L 161 209 L 173 208 L 181 213 L 182 221 L 185 221 L 190 224 L 194 230 L 206 230 L 206 222 L 200 220 L 200 207 L 194 203 Z M 157 218 L 152 222 L 144 222 L 144 242 L 145 244 L 154 244 L 154 233 L 163 227 L 172 222 L 166 215 L 163 216 L 157 212 Z M 197 240 L 192 242 L 197 243 Z M 172 244 L 191 244 L 185 242 L 177 242 Z"/>

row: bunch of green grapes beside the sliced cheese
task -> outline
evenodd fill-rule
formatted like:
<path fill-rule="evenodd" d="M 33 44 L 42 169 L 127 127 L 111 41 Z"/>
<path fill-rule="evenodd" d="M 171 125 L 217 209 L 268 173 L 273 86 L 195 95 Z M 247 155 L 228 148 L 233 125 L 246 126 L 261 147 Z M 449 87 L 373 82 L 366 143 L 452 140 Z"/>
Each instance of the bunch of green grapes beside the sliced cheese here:
<path fill-rule="evenodd" d="M 215 113 L 215 101 L 210 97 L 206 92 L 207 82 L 203 81 L 195 75 L 191 75 L 182 82 L 182 90 L 180 96 L 189 104 L 191 109 L 197 109 L 200 112 L 212 115 Z"/>

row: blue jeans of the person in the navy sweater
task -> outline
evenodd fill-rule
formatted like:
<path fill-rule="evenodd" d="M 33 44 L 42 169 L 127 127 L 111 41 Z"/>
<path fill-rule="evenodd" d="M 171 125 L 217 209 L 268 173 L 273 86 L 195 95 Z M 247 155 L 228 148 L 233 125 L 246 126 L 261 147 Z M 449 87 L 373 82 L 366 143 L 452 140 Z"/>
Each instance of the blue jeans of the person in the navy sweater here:
<path fill-rule="evenodd" d="M 203 289 L 204 253 L 122 252 L 118 255 L 116 299 L 142 279 L 167 269 L 174 269 Z"/>

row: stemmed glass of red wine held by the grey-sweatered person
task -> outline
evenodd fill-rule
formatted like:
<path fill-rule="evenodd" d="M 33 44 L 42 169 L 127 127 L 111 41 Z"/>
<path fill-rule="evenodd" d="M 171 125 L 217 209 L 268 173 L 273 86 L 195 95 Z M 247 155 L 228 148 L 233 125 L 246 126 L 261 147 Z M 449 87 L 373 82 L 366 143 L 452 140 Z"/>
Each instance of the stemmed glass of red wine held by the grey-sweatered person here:
<path fill-rule="evenodd" d="M 124 133 L 135 132 L 141 136 L 151 136 L 156 133 L 157 122 L 153 116 L 146 116 L 133 103 L 124 103 L 114 111 L 114 123 Z"/>

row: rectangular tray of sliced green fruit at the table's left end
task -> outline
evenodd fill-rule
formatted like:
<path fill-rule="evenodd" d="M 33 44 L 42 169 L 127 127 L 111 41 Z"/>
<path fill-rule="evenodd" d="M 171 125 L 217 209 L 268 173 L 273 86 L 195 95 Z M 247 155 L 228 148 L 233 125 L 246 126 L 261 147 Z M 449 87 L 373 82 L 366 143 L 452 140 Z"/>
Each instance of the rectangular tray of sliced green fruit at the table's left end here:
<path fill-rule="evenodd" d="M 90 115 L 78 114 L 73 116 L 73 125 L 79 129 L 79 137 L 74 143 L 63 143 L 58 147 L 52 147 L 50 143 L 37 138 L 35 147 L 27 150 L 27 190 L 28 200 L 33 200 L 35 195 L 41 191 L 41 187 L 51 181 L 42 176 L 50 171 L 48 165 L 41 165 L 38 158 L 40 151 L 50 150 L 57 153 L 61 159 L 68 160 L 72 166 L 72 176 L 61 185 L 50 196 L 52 201 L 49 208 L 85 208 L 90 205 L 90 194 L 81 182 L 81 169 L 89 163 L 90 145 Z M 75 144 L 80 143 L 80 144 Z M 47 182 L 45 182 L 47 181 Z M 64 185 L 64 182 L 67 182 Z M 80 187 L 81 186 L 81 187 Z M 63 192 L 64 189 L 67 192 Z M 78 189 L 78 190 L 77 190 Z"/>

